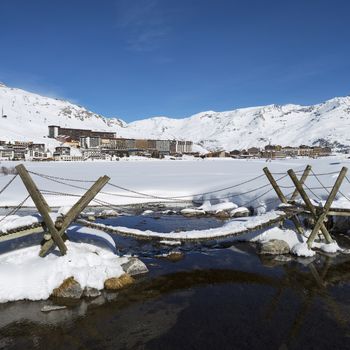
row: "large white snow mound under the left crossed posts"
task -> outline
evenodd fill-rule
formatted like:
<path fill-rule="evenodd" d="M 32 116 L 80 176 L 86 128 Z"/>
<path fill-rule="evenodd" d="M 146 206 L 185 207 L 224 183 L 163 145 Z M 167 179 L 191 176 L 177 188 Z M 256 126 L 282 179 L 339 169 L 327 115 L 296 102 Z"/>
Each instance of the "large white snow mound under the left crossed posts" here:
<path fill-rule="evenodd" d="M 64 279 L 73 276 L 81 287 L 103 289 L 104 281 L 119 277 L 127 261 L 86 243 L 66 242 L 67 254 L 40 258 L 34 246 L 0 255 L 0 302 L 47 299 Z"/>

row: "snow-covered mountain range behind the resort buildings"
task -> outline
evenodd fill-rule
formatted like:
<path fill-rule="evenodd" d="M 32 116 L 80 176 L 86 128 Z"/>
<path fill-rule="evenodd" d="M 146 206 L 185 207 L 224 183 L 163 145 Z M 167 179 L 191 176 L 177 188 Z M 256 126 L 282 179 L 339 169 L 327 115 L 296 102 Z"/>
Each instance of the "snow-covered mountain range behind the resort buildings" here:
<path fill-rule="evenodd" d="M 120 137 L 192 140 L 208 149 L 232 150 L 273 144 L 350 146 L 350 96 L 313 106 L 268 105 L 202 112 L 184 119 L 154 117 L 127 124 L 70 102 L 0 83 L 0 140 L 48 139 L 48 125 L 114 131 Z"/>

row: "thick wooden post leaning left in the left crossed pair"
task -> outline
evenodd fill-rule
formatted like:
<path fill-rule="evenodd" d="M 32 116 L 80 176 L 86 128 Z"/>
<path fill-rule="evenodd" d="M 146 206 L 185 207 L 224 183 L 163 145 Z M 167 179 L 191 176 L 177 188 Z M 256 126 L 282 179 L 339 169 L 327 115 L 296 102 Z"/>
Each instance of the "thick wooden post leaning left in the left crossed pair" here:
<path fill-rule="evenodd" d="M 31 176 L 29 175 L 27 169 L 24 167 L 23 164 L 17 165 L 16 170 L 19 176 L 21 177 L 28 193 L 30 194 L 35 206 L 37 207 L 40 215 L 42 216 L 43 221 L 46 224 L 46 227 L 49 230 L 52 238 L 54 239 L 55 243 L 60 249 L 61 254 L 62 255 L 66 254 L 67 247 L 64 244 L 62 237 L 58 234 L 58 231 L 50 217 L 50 214 L 49 214 L 50 208 L 45 198 L 42 196 L 42 194 L 36 187 L 34 181 L 32 180 Z"/>

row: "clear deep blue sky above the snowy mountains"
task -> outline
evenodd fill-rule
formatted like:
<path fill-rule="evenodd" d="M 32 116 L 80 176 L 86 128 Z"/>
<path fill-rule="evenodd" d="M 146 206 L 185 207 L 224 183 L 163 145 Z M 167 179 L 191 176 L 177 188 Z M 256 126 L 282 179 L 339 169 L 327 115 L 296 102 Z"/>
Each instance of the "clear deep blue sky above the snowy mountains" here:
<path fill-rule="evenodd" d="M 348 0 L 1 0 L 0 81 L 126 121 L 350 94 Z"/>

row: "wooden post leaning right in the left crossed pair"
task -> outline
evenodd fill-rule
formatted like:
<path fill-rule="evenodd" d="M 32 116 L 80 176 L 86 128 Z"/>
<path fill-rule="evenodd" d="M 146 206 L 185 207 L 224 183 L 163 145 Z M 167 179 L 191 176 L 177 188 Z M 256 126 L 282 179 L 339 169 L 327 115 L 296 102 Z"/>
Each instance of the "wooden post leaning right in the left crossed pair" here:
<path fill-rule="evenodd" d="M 77 216 L 88 206 L 88 204 L 95 198 L 95 196 L 101 191 L 101 189 L 110 180 L 108 176 L 100 177 L 88 190 L 87 192 L 78 200 L 77 203 L 68 211 L 64 216 L 63 221 L 57 225 L 56 228 L 59 229 L 59 236 L 63 236 L 66 229 L 74 221 Z M 46 253 L 52 248 L 54 240 L 47 240 L 41 247 L 39 255 L 41 257 L 45 256 Z"/>

